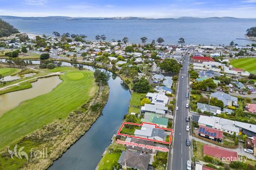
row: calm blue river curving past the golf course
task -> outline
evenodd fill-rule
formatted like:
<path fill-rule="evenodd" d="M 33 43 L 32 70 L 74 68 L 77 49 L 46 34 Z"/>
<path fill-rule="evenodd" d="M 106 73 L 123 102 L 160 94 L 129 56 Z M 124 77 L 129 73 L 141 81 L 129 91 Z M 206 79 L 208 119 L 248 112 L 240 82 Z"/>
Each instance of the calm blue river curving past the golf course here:
<path fill-rule="evenodd" d="M 4 62 L 5 60 L 0 60 Z M 39 64 L 40 61 L 32 61 L 33 64 Z M 72 66 L 69 62 L 62 62 L 62 66 Z M 92 66 L 83 65 L 84 68 L 94 71 Z M 118 128 L 123 122 L 123 117 L 129 108 L 131 94 L 129 88 L 122 84 L 123 82 L 117 75 L 100 69 L 109 75 L 109 97 L 105 108 L 92 127 L 73 144 L 53 165 L 50 170 L 62 169 L 86 169 L 93 170 L 101 159 L 105 148 L 111 143 L 111 137 L 117 133 Z"/>

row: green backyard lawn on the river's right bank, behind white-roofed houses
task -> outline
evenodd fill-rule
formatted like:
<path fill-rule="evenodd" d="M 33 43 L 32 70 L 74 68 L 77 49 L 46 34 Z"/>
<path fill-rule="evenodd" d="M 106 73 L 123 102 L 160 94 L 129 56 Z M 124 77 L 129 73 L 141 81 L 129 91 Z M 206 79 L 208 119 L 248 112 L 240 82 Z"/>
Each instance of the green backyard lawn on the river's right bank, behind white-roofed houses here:
<path fill-rule="evenodd" d="M 128 112 L 134 112 L 136 114 L 139 114 L 141 111 L 141 100 L 146 97 L 145 93 L 135 93 L 133 92 L 131 94 L 131 100 L 130 100 L 130 105 L 129 105 L 129 110 Z"/>

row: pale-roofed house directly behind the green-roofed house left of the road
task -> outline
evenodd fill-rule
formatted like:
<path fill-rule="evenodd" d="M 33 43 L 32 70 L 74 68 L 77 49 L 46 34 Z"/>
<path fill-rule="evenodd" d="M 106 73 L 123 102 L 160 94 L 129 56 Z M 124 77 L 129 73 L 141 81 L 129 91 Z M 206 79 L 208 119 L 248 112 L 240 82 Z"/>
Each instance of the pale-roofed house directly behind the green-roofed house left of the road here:
<path fill-rule="evenodd" d="M 168 113 L 168 108 L 159 104 L 145 104 L 141 107 L 141 113 L 151 112 L 164 117 Z"/>

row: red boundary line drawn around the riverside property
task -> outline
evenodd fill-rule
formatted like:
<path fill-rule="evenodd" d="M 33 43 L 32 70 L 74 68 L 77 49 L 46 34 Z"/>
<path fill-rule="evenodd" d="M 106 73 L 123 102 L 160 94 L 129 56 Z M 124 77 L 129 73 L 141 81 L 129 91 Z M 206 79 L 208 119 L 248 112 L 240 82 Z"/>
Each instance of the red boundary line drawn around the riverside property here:
<path fill-rule="evenodd" d="M 150 138 L 144 138 L 144 137 L 138 137 L 138 136 L 127 135 L 127 134 L 121 134 L 120 131 L 121 131 L 121 129 L 124 127 L 125 124 L 138 125 L 138 126 L 140 126 L 140 127 L 141 127 L 143 124 L 152 124 L 152 125 L 155 125 L 155 128 L 156 128 L 156 129 L 163 129 L 163 130 L 168 130 L 168 131 L 170 131 L 170 141 L 169 141 L 169 142 L 164 142 L 164 141 L 152 140 L 152 139 L 150 139 Z M 142 122 L 141 124 L 138 124 L 138 123 L 131 123 L 131 122 L 123 122 L 123 124 L 122 124 L 121 127 L 119 128 L 117 134 L 118 134 L 118 135 L 121 135 L 121 136 L 128 136 L 128 137 L 140 138 L 140 139 L 147 140 L 147 141 L 153 141 L 153 142 L 160 142 L 160 143 L 164 143 L 164 144 L 170 144 L 170 142 L 172 141 L 173 129 L 160 128 L 160 127 L 156 127 L 156 125 L 157 125 L 157 124 L 148 123 L 148 122 Z"/>

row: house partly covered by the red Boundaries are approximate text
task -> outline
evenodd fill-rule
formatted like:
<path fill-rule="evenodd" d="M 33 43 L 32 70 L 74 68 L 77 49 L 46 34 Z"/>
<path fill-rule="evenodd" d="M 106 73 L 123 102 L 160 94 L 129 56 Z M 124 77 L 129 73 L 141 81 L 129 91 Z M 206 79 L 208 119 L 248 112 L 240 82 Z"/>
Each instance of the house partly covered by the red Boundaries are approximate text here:
<path fill-rule="evenodd" d="M 142 140 L 142 139 L 134 138 L 134 137 L 131 138 L 130 142 L 145 144 L 145 146 L 146 145 L 150 145 L 150 146 L 155 145 L 153 141 Z M 153 152 L 155 152 L 155 150 L 153 150 L 153 149 L 147 149 L 147 148 L 143 148 L 143 147 L 136 147 L 136 146 L 130 146 L 130 145 L 127 145 L 127 150 L 130 150 L 131 152 L 141 153 L 141 154 L 153 154 Z"/>

